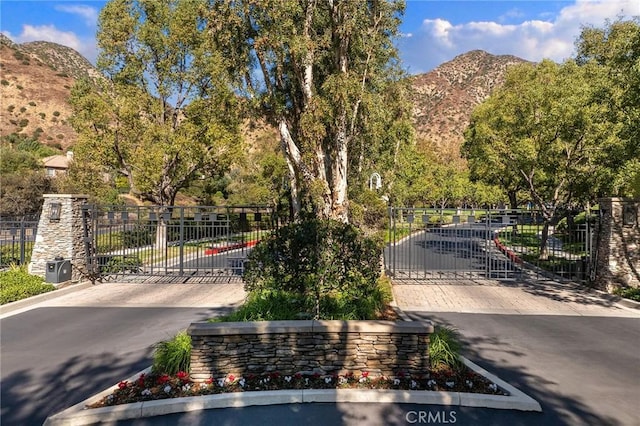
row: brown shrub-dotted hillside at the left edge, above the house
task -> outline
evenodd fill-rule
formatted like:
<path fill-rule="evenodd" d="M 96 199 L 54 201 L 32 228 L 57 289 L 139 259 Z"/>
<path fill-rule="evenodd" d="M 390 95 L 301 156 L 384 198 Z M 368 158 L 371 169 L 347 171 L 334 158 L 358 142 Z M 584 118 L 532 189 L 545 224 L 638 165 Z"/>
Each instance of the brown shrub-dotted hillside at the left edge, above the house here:
<path fill-rule="evenodd" d="M 0 34 L 0 136 L 36 136 L 60 149 L 73 145 L 68 99 L 81 77 L 100 74 L 75 50 L 43 41 L 15 44 Z"/>

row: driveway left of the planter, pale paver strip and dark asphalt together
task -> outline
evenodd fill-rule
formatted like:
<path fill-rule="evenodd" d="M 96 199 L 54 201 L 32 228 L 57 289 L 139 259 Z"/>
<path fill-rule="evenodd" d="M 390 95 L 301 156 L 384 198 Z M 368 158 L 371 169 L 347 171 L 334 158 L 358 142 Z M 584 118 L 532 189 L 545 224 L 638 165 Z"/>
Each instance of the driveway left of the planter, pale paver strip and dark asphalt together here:
<path fill-rule="evenodd" d="M 153 344 L 230 311 L 236 284 L 101 284 L 2 316 L 3 425 L 39 425 L 151 363 Z"/>

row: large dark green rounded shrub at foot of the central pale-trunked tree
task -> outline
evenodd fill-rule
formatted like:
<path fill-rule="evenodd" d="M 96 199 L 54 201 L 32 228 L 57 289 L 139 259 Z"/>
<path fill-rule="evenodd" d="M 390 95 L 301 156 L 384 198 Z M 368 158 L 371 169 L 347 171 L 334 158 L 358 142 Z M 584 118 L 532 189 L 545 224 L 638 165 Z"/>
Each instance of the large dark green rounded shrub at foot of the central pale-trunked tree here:
<path fill-rule="evenodd" d="M 380 276 L 382 245 L 356 227 L 332 220 L 307 219 L 278 229 L 249 255 L 247 291 L 278 289 L 314 301 L 314 318 L 322 298 L 368 304 Z"/>

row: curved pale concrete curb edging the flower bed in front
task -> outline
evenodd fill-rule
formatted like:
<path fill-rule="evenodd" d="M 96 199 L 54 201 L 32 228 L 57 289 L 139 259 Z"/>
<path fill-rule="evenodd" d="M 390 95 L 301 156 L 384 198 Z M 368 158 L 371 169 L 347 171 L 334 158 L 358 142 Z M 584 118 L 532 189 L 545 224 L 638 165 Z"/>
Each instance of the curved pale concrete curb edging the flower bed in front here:
<path fill-rule="evenodd" d="M 155 401 L 115 405 L 113 407 L 85 408 L 111 394 L 118 386 L 94 395 L 79 404 L 47 418 L 45 426 L 80 426 L 117 420 L 161 416 L 173 413 L 209 410 L 217 408 L 248 407 L 253 405 L 279 405 L 302 403 L 396 403 L 430 404 L 460 407 L 495 408 L 501 410 L 542 411 L 540 404 L 477 364 L 461 357 L 470 369 L 483 375 L 509 395 L 487 395 L 464 392 L 401 391 L 376 389 L 293 389 L 264 392 L 233 392 L 186 398 L 169 398 Z M 127 381 L 136 380 L 147 368 Z"/>

